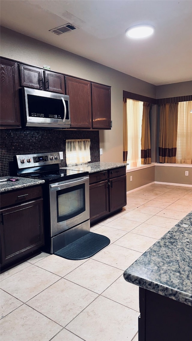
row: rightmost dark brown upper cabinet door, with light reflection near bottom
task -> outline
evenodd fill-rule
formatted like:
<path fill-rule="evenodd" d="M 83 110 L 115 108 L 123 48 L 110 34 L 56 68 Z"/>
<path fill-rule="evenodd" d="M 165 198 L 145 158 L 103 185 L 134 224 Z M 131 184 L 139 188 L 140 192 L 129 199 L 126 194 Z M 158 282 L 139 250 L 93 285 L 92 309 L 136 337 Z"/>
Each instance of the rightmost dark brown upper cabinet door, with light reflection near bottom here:
<path fill-rule="evenodd" d="M 92 83 L 93 128 L 111 129 L 111 88 Z"/>

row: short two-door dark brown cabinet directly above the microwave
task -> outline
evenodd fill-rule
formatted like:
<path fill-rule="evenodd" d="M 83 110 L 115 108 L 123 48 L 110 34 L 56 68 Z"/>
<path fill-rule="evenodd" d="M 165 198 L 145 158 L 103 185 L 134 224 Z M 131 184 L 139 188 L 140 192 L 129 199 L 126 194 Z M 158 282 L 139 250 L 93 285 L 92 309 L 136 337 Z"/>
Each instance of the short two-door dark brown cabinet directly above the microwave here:
<path fill-rule="evenodd" d="M 63 74 L 20 64 L 20 79 L 24 87 L 65 94 Z"/>

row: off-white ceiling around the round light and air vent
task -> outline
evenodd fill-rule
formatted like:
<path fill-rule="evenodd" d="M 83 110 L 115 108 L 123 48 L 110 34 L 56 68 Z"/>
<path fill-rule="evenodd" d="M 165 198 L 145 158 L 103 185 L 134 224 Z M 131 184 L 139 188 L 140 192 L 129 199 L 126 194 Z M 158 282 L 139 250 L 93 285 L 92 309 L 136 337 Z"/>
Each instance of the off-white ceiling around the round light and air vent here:
<path fill-rule="evenodd" d="M 192 80 L 191 0 L 1 0 L 2 26 L 154 85 Z M 49 30 L 70 23 L 76 30 Z M 125 36 L 155 26 L 142 40 Z"/>

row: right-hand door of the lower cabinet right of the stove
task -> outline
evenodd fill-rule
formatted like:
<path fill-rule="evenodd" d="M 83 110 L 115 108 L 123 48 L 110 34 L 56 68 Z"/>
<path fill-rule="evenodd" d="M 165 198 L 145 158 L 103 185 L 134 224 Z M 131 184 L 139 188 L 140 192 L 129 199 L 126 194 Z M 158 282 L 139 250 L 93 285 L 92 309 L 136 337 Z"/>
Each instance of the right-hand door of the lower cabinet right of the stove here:
<path fill-rule="evenodd" d="M 110 212 L 125 206 L 126 203 L 126 175 L 109 180 Z"/>

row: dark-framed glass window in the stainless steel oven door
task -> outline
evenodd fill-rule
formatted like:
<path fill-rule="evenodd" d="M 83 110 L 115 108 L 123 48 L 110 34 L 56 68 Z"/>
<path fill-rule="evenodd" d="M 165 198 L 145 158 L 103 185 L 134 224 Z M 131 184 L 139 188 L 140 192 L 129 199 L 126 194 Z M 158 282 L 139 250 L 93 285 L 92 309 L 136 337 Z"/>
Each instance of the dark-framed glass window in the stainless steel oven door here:
<path fill-rule="evenodd" d="M 85 184 L 57 191 L 57 222 L 78 216 L 85 211 Z"/>

